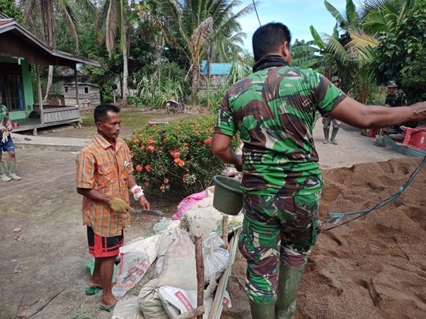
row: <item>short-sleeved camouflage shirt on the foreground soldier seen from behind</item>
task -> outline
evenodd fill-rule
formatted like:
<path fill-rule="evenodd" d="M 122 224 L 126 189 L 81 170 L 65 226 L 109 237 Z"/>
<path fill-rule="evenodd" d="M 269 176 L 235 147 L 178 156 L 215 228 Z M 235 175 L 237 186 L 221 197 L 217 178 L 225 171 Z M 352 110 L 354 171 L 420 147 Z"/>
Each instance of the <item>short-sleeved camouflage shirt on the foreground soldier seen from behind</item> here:
<path fill-rule="evenodd" d="M 261 69 L 224 95 L 215 133 L 243 141 L 243 190 L 294 196 L 321 191 L 313 144 L 318 110 L 328 115 L 347 95 L 312 69 Z"/>

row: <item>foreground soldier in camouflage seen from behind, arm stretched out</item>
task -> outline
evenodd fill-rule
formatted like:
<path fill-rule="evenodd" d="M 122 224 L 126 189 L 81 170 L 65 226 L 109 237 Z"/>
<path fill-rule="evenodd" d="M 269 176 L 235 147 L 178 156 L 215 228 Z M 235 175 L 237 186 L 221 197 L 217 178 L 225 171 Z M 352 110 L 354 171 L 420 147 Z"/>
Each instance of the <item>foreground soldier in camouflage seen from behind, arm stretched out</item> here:
<path fill-rule="evenodd" d="M 320 231 L 323 180 L 312 136 L 316 110 L 355 127 L 426 117 L 426 103 L 363 105 L 312 69 L 292 67 L 290 42 L 282 23 L 256 30 L 254 73 L 226 91 L 212 138 L 212 153 L 243 171 L 238 248 L 247 260 L 254 319 L 294 318 L 306 257 Z M 237 131 L 242 156 L 229 148 Z"/>

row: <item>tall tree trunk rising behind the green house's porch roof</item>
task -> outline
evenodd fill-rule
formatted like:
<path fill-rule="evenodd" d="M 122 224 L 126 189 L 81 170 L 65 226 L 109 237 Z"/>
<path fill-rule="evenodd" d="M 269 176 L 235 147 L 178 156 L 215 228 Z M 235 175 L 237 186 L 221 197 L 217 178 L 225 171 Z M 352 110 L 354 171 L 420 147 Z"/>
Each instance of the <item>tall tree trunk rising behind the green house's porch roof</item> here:
<path fill-rule="evenodd" d="M 56 47 L 56 39 L 54 36 L 54 14 L 53 14 L 53 0 L 42 0 L 40 1 L 40 11 L 42 15 L 43 30 L 45 33 L 45 42 L 53 49 Z M 53 66 L 49 66 L 49 75 L 47 76 L 47 88 L 46 95 L 43 99 L 43 104 L 47 104 L 52 94 L 52 78 L 53 78 Z M 76 83 L 76 87 L 77 83 Z"/>

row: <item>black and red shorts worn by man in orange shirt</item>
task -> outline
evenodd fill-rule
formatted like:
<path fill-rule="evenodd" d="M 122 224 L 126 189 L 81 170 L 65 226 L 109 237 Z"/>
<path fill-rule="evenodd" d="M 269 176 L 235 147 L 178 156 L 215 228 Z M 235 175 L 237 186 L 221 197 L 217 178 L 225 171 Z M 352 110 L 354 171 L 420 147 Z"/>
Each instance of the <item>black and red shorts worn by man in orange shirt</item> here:
<path fill-rule="evenodd" d="M 120 253 L 120 247 L 122 247 L 125 236 L 121 231 L 120 236 L 103 237 L 96 235 L 93 229 L 87 226 L 87 241 L 88 241 L 88 252 L 94 257 L 111 257 L 116 256 Z"/>

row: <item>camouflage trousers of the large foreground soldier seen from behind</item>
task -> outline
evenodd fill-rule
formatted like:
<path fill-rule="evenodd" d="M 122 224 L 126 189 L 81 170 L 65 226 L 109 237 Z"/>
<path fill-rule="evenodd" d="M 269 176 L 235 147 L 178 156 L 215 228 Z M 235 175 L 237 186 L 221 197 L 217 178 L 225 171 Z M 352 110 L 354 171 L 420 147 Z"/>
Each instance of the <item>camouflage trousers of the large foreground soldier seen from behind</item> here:
<path fill-rule="evenodd" d="M 275 300 L 279 258 L 284 265 L 304 268 L 320 230 L 320 194 L 244 195 L 238 248 L 247 260 L 246 291 L 252 301 Z"/>

